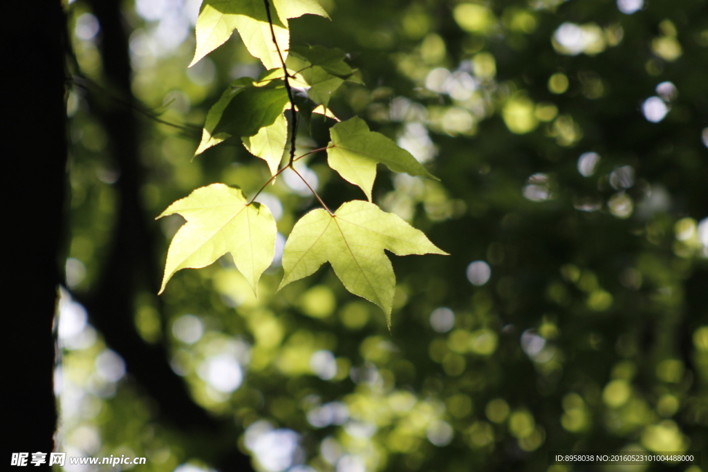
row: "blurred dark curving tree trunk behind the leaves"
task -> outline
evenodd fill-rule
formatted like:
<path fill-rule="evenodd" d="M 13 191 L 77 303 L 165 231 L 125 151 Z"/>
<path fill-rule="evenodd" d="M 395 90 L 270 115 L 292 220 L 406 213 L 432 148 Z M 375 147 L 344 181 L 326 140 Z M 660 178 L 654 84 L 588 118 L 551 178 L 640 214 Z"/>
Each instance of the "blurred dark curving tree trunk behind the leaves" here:
<path fill-rule="evenodd" d="M 125 359 L 132 379 L 159 405 L 158 420 L 178 428 L 195 444 L 195 449 L 185 454 L 210 462 L 221 471 L 249 471 L 249 456 L 236 448 L 235 422 L 212 418 L 196 405 L 182 379 L 172 371 L 164 346 L 145 343 L 133 322 L 135 297 L 139 292 L 156 294 L 161 273 L 156 266 L 156 234 L 149 227 L 154 215 L 149 217 L 140 201 L 144 168 L 139 159 L 139 123 L 130 85 L 128 32 L 120 4 L 118 0 L 91 1 L 93 14 L 101 24 L 99 47 L 104 77 L 110 93 L 117 93 L 114 98 L 120 99 L 96 100 L 94 110 L 108 134 L 120 178 L 115 183 L 118 212 L 108 258 L 91 293 L 80 300 L 106 343 Z"/>

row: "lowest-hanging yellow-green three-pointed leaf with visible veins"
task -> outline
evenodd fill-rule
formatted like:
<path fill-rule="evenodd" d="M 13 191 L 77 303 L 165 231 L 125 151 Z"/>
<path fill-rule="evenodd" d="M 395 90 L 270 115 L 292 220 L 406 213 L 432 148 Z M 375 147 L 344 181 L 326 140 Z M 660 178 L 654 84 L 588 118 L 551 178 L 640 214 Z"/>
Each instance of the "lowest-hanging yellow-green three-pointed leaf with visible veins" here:
<path fill-rule="evenodd" d="M 396 255 L 447 254 L 395 214 L 353 200 L 334 214 L 316 209 L 297 221 L 282 253 L 285 277 L 279 288 L 329 262 L 344 287 L 380 306 L 390 324 L 396 277 L 384 249 Z"/>

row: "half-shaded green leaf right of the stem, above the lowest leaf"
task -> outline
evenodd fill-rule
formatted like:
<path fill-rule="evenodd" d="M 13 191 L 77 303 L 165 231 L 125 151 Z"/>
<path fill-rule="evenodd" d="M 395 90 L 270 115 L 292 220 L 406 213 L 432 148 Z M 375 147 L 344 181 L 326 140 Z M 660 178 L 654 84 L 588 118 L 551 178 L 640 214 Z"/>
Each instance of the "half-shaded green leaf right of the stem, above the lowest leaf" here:
<path fill-rule="evenodd" d="M 329 166 L 344 180 L 358 185 L 369 201 L 377 163 L 384 164 L 394 172 L 438 180 L 409 151 L 401 149 L 383 134 L 370 131 L 366 122 L 358 117 L 334 125 L 329 133 Z"/>

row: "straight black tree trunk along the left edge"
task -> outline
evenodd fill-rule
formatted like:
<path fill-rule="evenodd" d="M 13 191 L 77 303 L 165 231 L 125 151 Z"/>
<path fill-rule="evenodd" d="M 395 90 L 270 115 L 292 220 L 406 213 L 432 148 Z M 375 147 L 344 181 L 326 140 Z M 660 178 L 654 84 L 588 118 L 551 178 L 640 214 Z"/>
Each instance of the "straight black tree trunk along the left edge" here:
<path fill-rule="evenodd" d="M 61 280 L 57 253 L 67 166 L 65 22 L 58 0 L 31 8 L 35 13 L 28 16 L 27 4 L 11 1 L 3 11 L 3 248 L 9 256 L 2 317 L 8 349 L 3 423 L 9 433 L 3 468 L 13 452 L 27 452 L 29 459 L 33 452 L 50 453 L 57 424 L 52 320 Z"/>

